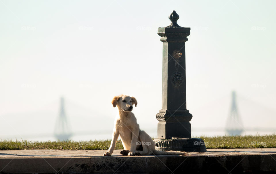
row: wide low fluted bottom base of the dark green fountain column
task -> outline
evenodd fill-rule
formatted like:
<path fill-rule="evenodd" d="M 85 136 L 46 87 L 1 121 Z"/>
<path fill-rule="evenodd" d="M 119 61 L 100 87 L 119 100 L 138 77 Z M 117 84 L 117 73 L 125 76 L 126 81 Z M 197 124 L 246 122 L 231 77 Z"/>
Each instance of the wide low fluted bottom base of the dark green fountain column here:
<path fill-rule="evenodd" d="M 185 152 L 206 152 L 206 147 L 201 138 L 155 138 L 154 145 L 156 150 L 174 150 Z"/>

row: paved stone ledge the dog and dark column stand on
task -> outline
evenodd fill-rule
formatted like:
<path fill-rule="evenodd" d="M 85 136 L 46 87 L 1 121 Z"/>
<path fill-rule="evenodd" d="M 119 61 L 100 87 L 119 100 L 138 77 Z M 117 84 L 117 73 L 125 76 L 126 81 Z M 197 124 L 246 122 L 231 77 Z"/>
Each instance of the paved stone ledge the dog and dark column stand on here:
<path fill-rule="evenodd" d="M 276 149 L 212 149 L 189 156 L 101 156 L 104 150 L 0 151 L 3 173 L 254 173 L 276 172 Z"/>

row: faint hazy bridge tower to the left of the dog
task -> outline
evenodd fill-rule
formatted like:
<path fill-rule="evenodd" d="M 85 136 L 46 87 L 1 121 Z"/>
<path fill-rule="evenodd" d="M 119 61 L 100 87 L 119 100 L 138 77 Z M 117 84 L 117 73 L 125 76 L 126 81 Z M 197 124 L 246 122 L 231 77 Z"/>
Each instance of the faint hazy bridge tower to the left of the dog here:
<path fill-rule="evenodd" d="M 55 124 L 54 135 L 60 141 L 70 140 L 70 137 L 72 136 L 72 132 L 70 130 L 70 126 L 68 125 L 68 120 L 64 110 L 63 97 L 60 98 L 60 112 Z"/>

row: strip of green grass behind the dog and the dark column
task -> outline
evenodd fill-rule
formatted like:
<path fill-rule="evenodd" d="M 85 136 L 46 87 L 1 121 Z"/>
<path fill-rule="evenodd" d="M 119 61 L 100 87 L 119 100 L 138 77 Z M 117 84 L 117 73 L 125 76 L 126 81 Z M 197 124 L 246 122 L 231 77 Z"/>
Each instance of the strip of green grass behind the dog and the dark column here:
<path fill-rule="evenodd" d="M 217 136 L 199 137 L 205 142 L 208 149 L 214 148 L 276 148 L 276 135 L 248 135 L 248 136 Z M 0 141 L 0 150 L 23 150 L 23 149 L 64 149 L 64 150 L 107 150 L 111 140 L 102 141 L 48 141 L 32 142 L 27 140 Z M 118 141 L 115 149 L 123 149 L 122 142 Z"/>

